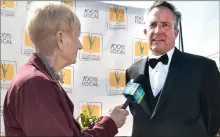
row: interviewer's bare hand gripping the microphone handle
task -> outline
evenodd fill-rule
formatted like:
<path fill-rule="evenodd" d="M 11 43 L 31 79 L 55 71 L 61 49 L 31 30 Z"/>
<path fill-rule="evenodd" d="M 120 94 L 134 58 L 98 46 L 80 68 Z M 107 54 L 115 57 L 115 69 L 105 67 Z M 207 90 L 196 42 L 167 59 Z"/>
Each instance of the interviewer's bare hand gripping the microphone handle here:
<path fill-rule="evenodd" d="M 122 105 L 115 106 L 109 110 L 107 116 L 109 116 L 116 124 L 118 128 L 121 128 L 127 119 L 129 112 L 127 110 L 121 109 Z"/>

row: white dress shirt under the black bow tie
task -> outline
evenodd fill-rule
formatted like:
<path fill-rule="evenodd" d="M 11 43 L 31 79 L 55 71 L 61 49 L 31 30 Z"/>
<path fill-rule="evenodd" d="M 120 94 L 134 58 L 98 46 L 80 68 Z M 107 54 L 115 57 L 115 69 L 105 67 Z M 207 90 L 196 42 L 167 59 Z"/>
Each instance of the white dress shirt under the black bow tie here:
<path fill-rule="evenodd" d="M 164 65 L 162 62 L 158 62 L 154 69 L 152 69 L 149 66 L 149 78 L 150 78 L 151 89 L 154 96 L 157 96 L 157 94 L 161 91 L 161 89 L 164 86 L 169 71 L 170 62 L 173 56 L 173 52 L 174 52 L 174 47 L 167 52 L 169 58 L 167 65 Z M 149 59 L 159 58 L 162 56 L 162 55 L 155 56 L 150 50 L 148 55 L 149 55 Z"/>

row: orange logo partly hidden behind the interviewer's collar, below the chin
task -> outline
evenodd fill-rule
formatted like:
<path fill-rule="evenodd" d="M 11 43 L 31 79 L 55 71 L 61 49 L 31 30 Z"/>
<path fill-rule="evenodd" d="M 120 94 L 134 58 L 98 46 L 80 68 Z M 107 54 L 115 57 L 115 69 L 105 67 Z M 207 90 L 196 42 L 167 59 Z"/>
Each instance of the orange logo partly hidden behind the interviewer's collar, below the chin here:
<path fill-rule="evenodd" d="M 73 66 L 67 66 L 60 72 L 63 77 L 62 87 L 67 93 L 72 93 L 73 91 L 73 76 L 74 76 L 74 68 Z M 62 83 L 62 82 L 61 82 Z"/>

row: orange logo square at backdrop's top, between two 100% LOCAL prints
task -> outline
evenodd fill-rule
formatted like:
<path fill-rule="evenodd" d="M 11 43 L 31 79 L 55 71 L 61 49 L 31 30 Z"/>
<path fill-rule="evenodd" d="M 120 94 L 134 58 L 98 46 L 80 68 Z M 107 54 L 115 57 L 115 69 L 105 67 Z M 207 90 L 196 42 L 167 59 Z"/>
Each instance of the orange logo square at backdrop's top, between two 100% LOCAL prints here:
<path fill-rule="evenodd" d="M 114 6 L 113 8 L 109 8 L 109 20 L 112 22 L 125 22 L 125 11 L 118 6 Z"/>

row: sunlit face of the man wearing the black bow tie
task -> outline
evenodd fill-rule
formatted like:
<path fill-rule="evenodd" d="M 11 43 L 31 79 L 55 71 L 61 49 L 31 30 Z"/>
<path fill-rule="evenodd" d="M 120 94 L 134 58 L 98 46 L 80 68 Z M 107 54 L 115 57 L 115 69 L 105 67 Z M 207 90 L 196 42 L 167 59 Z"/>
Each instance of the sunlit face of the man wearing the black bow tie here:
<path fill-rule="evenodd" d="M 153 52 L 163 54 L 174 47 L 178 34 L 174 25 L 174 15 L 168 8 L 156 7 L 151 10 L 146 20 L 145 35 Z"/>

